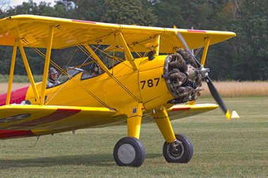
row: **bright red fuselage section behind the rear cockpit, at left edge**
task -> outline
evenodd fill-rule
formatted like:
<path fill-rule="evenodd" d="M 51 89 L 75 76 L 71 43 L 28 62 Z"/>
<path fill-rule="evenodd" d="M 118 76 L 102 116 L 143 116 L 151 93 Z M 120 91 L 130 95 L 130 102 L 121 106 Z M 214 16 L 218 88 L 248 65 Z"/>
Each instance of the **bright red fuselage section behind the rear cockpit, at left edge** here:
<path fill-rule="evenodd" d="M 20 104 L 21 102 L 25 101 L 25 97 L 28 91 L 28 87 L 23 87 L 21 89 L 16 89 L 14 91 L 11 91 L 11 101 L 10 103 L 17 103 Z M 6 96 L 7 94 L 1 94 L 0 95 L 0 106 L 6 105 Z"/>

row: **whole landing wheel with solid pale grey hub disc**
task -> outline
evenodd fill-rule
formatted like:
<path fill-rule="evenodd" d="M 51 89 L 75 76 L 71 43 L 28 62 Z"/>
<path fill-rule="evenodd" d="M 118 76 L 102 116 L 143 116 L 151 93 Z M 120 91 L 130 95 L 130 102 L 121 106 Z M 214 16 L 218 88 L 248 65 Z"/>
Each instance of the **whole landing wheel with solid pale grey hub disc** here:
<path fill-rule="evenodd" d="M 140 167 L 145 160 L 145 146 L 139 139 L 126 136 L 114 146 L 114 160 L 120 166 Z"/>

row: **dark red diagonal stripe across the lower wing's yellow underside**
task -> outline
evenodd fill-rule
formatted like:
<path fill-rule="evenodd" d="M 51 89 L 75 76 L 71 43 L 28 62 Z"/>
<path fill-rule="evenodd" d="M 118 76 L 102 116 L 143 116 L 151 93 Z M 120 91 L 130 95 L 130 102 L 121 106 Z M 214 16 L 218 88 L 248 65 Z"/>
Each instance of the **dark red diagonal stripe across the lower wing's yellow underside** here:
<path fill-rule="evenodd" d="M 44 117 L 40 117 L 36 120 L 30 120 L 28 122 L 23 122 L 17 125 L 9 125 L 8 127 L 4 127 L 2 129 L 25 129 L 28 127 L 35 127 L 37 125 L 45 125 L 49 122 L 54 122 L 57 120 L 62 120 L 66 117 L 70 117 L 71 115 L 75 115 L 79 112 L 80 110 L 58 108 L 54 113 L 45 115 Z"/>

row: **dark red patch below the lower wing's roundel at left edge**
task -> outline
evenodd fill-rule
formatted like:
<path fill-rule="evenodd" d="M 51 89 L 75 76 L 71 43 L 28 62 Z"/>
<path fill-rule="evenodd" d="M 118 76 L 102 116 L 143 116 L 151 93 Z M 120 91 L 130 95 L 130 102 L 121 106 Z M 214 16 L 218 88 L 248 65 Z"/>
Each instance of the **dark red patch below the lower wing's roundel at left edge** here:
<path fill-rule="evenodd" d="M 35 136 L 30 130 L 0 130 L 0 139 Z"/>

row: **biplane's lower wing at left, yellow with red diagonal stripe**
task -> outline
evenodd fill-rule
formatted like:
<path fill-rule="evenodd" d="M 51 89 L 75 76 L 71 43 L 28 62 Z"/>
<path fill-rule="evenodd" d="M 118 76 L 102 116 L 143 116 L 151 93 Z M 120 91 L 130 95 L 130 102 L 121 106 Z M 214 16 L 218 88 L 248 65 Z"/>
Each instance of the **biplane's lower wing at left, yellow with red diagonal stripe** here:
<path fill-rule="evenodd" d="M 44 133 L 44 130 L 70 130 L 101 125 L 111 122 L 111 115 L 117 112 L 111 108 L 32 105 L 1 106 L 0 110 L 2 117 L 20 115 L 18 117 L 22 118 L 1 123 L 0 129 L 33 129 Z"/>

